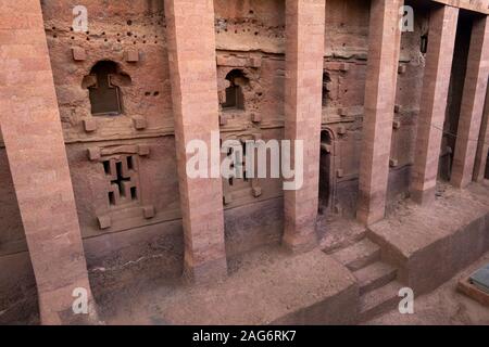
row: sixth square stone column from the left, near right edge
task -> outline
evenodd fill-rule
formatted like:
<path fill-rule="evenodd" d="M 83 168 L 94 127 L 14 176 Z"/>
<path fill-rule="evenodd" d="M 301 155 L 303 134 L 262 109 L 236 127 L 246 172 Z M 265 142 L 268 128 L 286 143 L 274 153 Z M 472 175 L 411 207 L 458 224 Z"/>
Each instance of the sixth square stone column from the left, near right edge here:
<path fill-rule="evenodd" d="M 459 118 L 451 182 L 465 188 L 473 179 L 474 163 L 489 73 L 489 20 L 475 18 L 472 27 L 467 73 Z"/>

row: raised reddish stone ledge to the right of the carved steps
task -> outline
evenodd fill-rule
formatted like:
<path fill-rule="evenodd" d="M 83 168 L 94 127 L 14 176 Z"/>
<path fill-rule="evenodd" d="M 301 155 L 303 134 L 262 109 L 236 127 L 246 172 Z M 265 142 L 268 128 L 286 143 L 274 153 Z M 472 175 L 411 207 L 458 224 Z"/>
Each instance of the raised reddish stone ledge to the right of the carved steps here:
<path fill-rule="evenodd" d="M 489 184 L 444 192 L 428 207 L 405 208 L 369 227 L 383 259 L 417 295 L 430 292 L 489 249 Z"/>

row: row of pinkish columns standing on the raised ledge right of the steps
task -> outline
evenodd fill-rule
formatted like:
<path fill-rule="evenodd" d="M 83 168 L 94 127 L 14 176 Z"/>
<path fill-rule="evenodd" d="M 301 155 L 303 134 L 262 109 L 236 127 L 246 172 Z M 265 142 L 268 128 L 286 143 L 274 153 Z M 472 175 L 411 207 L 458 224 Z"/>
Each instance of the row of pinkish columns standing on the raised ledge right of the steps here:
<path fill-rule="evenodd" d="M 396 12 L 401 5 L 402 1 L 372 1 L 358 207 L 358 218 L 366 224 L 385 216 L 401 30 Z M 456 8 L 438 5 L 431 10 L 411 184 L 412 198 L 419 204 L 435 200 L 457 18 Z M 487 16 L 477 17 L 473 23 L 451 177 L 457 188 L 482 177 L 487 156 L 487 116 L 482 123 L 482 108 L 489 72 L 488 25 Z M 476 167 L 475 163 L 478 163 Z"/>

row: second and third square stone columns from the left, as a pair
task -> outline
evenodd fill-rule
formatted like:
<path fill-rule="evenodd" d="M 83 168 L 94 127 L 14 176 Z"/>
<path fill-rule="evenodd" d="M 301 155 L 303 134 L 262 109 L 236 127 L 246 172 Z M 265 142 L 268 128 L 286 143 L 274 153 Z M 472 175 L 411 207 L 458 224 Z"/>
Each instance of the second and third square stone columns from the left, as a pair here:
<path fill-rule="evenodd" d="M 186 145 L 199 139 L 209 149 L 218 146 L 211 141 L 220 130 L 213 1 L 167 0 L 165 12 L 186 273 L 197 282 L 212 281 L 226 274 L 222 182 L 189 178 L 186 163 L 192 153 Z M 301 250 L 317 242 L 325 1 L 287 0 L 286 21 L 285 132 L 288 140 L 303 141 L 304 184 L 285 193 L 284 244 Z M 294 153 L 291 163 L 294 167 Z M 210 163 L 209 172 L 213 165 L 218 163 Z"/>

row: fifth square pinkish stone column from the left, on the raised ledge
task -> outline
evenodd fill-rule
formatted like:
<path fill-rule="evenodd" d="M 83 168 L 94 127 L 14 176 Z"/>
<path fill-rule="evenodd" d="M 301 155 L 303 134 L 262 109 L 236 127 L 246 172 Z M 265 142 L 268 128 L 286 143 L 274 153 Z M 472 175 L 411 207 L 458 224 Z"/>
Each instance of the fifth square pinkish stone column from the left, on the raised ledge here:
<path fill-rule="evenodd" d="M 411 196 L 418 204 L 435 200 L 457 18 L 459 9 L 448 5 L 434 8 L 429 18 L 429 44 L 411 184 Z"/>

